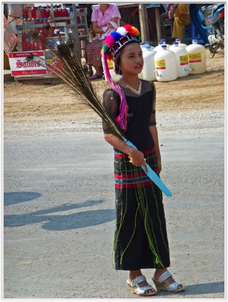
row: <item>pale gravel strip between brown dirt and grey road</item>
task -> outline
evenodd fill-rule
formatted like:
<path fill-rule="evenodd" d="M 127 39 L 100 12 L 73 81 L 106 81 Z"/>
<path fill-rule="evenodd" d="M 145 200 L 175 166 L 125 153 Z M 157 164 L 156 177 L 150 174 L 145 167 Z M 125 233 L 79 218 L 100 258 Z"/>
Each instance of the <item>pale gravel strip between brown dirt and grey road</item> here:
<path fill-rule="evenodd" d="M 59 121 L 42 122 L 6 122 L 4 129 L 5 138 L 36 137 L 40 135 L 60 135 L 63 133 L 78 132 L 102 132 L 102 123 L 100 119 L 78 119 L 64 118 Z M 224 111 L 191 111 L 178 113 L 160 112 L 157 115 L 158 131 L 168 132 L 186 132 L 205 130 L 210 131 L 223 127 Z"/>

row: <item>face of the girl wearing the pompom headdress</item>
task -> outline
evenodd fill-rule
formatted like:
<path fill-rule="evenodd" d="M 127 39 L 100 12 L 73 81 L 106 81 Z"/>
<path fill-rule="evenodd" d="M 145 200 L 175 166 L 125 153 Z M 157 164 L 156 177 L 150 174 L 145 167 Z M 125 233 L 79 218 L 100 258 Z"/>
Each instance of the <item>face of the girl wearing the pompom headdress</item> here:
<path fill-rule="evenodd" d="M 138 43 L 129 43 L 121 51 L 119 67 L 122 74 L 139 74 L 143 69 L 143 52 Z"/>

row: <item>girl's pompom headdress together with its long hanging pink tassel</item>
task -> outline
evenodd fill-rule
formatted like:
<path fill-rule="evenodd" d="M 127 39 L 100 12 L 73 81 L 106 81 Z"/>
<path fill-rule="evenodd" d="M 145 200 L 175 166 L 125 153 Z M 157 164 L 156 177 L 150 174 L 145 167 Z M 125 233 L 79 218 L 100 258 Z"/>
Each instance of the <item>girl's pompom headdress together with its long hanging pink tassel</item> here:
<path fill-rule="evenodd" d="M 112 88 L 120 96 L 120 106 L 119 106 L 119 115 L 115 118 L 118 126 L 126 131 L 127 128 L 127 112 L 128 106 L 126 103 L 126 98 L 121 87 L 116 84 L 110 75 L 107 60 L 113 59 L 121 49 L 126 46 L 128 43 L 137 42 L 141 40 L 141 35 L 138 29 L 130 24 L 126 24 L 122 27 L 118 27 L 116 32 L 112 32 L 111 35 L 107 36 L 105 39 L 106 44 L 103 45 L 103 62 L 104 62 L 104 72 L 106 78 Z"/>

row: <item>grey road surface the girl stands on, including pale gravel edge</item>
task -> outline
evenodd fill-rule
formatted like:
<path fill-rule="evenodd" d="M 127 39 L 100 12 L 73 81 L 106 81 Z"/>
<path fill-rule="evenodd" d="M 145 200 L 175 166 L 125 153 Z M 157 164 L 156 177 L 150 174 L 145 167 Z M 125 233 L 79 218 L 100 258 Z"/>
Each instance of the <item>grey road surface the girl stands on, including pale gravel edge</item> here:
<path fill-rule="evenodd" d="M 113 150 L 99 128 L 5 123 L 4 298 L 139 298 L 112 266 Z M 224 298 L 224 112 L 159 112 L 157 128 L 169 270 L 186 290 L 150 298 Z"/>

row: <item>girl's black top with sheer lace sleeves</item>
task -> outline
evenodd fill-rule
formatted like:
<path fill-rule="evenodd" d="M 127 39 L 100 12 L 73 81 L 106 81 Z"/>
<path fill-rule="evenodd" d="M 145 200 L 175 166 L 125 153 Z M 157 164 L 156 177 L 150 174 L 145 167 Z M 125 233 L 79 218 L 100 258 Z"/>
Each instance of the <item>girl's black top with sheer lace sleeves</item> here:
<path fill-rule="evenodd" d="M 128 105 L 128 123 L 124 133 L 126 139 L 141 150 L 149 150 L 154 146 L 149 126 L 156 125 L 155 101 L 156 90 L 153 82 L 142 81 L 141 94 L 138 96 L 129 88 L 122 87 Z M 106 89 L 103 95 L 104 106 L 114 120 L 119 115 L 120 97 L 113 89 Z M 103 123 L 104 133 L 110 133 Z"/>

